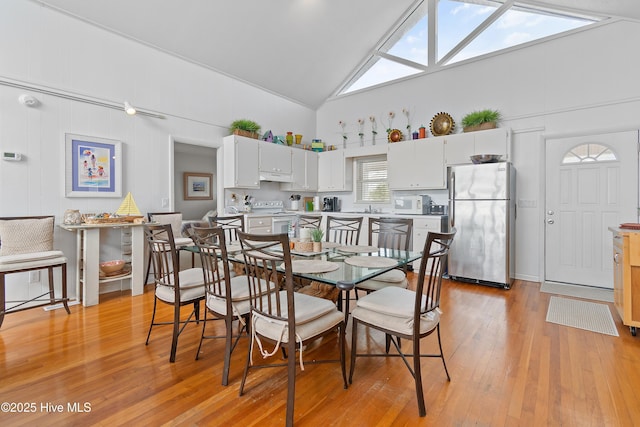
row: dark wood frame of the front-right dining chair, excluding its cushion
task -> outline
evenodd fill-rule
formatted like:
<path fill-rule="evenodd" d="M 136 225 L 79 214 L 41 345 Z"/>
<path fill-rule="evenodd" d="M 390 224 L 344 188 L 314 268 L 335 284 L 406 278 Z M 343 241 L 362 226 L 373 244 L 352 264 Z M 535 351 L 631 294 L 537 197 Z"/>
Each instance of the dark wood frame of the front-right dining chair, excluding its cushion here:
<path fill-rule="evenodd" d="M 427 235 L 422 255 L 422 262 L 420 264 L 420 271 L 418 273 L 418 281 L 416 284 L 412 334 L 398 335 L 398 333 L 395 331 L 385 329 L 379 325 L 373 325 L 368 322 L 363 322 L 353 317 L 349 383 L 352 383 L 353 381 L 353 372 L 355 370 L 356 357 L 401 357 L 415 381 L 416 398 L 418 400 L 418 412 L 421 417 L 424 417 L 427 414 L 427 410 L 424 403 L 424 394 L 422 390 L 422 372 L 420 366 L 420 358 L 438 357 L 442 359 L 442 365 L 444 366 L 444 371 L 447 375 L 447 381 L 451 381 L 449 371 L 447 370 L 447 363 L 444 360 L 444 354 L 442 352 L 442 340 L 440 339 L 440 322 L 438 322 L 435 328 L 425 333 L 421 333 L 420 318 L 429 312 L 439 310 L 440 290 L 442 288 L 442 275 L 444 273 L 445 266 L 447 265 L 449 248 L 451 246 L 451 242 L 453 241 L 454 235 L 455 230 L 453 230 L 451 233 L 429 232 L 429 234 Z M 424 304 L 423 297 L 426 298 L 426 304 Z M 371 329 L 377 329 L 385 333 L 385 353 L 357 352 L 358 324 L 363 324 Z M 434 331 L 436 331 L 438 336 L 438 348 L 440 352 L 437 354 L 422 354 L 420 352 L 420 340 L 428 335 L 431 335 Z M 409 340 L 412 343 L 412 353 L 406 354 L 402 351 L 399 343 L 400 338 Z M 389 353 L 390 343 L 393 343 L 397 353 Z M 412 361 L 410 362 L 408 358 L 412 358 Z"/>

